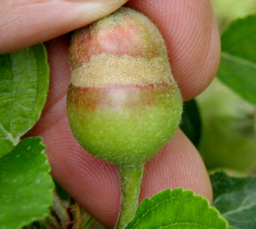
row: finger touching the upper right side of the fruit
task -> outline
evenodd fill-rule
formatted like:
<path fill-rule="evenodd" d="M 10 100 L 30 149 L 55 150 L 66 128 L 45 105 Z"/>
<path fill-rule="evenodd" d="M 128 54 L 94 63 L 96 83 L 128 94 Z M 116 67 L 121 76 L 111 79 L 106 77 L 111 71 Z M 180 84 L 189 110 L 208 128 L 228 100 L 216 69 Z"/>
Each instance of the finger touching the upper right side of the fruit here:
<path fill-rule="evenodd" d="M 159 28 L 184 100 L 211 83 L 220 62 L 220 35 L 209 0 L 131 0 Z"/>

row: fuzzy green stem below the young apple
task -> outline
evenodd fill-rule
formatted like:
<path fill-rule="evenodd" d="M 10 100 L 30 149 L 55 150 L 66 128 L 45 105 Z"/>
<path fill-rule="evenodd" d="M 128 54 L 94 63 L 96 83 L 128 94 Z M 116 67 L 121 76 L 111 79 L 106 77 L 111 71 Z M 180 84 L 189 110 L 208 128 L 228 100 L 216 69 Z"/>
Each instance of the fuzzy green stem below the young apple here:
<path fill-rule="evenodd" d="M 123 229 L 132 220 L 138 208 L 140 184 L 144 164 L 135 166 L 119 165 L 118 172 L 121 181 L 121 206 L 115 229 Z"/>

